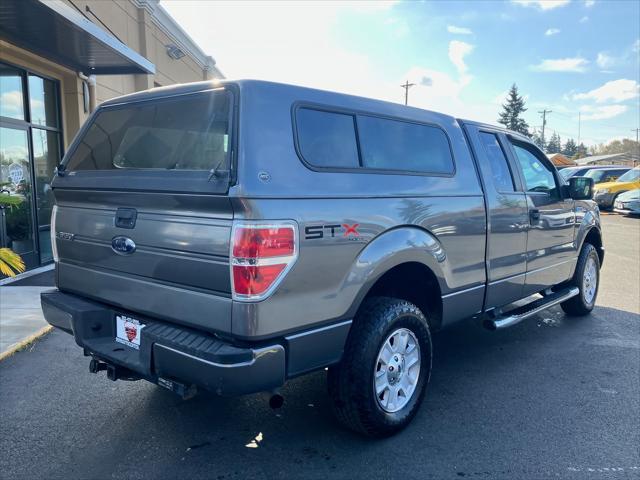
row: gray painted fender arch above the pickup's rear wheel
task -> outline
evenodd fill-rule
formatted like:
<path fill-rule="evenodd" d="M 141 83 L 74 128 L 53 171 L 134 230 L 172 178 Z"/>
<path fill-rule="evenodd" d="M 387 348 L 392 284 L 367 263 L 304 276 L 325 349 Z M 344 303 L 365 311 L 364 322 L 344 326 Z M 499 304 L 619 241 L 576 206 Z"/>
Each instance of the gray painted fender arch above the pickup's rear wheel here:
<path fill-rule="evenodd" d="M 435 275 L 441 294 L 449 291 L 447 253 L 435 235 L 418 227 L 397 227 L 375 237 L 356 257 L 341 289 L 353 289 L 346 315 L 353 317 L 373 285 L 389 270 L 405 263 L 419 263 Z"/>

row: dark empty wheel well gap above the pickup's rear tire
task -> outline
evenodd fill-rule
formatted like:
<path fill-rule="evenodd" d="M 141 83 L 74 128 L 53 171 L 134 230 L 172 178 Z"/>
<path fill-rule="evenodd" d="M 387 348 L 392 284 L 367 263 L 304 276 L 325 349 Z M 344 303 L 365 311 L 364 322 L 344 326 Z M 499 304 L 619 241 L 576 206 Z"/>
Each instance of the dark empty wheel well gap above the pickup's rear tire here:
<path fill-rule="evenodd" d="M 442 324 L 442 297 L 438 279 L 431 269 L 421 263 L 409 262 L 397 265 L 371 287 L 369 297 L 394 297 L 416 305 L 437 330 Z"/>

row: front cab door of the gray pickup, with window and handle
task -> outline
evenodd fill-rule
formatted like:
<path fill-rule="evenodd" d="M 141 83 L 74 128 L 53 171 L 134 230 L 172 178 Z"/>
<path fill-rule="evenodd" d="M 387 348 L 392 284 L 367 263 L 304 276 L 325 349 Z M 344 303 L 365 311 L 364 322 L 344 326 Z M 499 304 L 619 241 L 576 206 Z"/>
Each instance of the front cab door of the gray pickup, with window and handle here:
<path fill-rule="evenodd" d="M 558 172 L 535 145 L 509 136 L 529 213 L 524 295 L 567 280 L 576 259 L 574 201 L 563 198 Z"/>

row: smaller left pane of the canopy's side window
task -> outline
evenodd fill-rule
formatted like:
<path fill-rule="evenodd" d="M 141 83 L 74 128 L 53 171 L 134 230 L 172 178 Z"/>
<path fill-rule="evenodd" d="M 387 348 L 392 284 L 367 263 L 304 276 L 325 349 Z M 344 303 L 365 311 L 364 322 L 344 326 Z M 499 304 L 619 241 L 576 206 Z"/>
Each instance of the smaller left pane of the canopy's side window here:
<path fill-rule="evenodd" d="M 360 166 L 353 115 L 300 108 L 296 121 L 300 153 L 308 163 L 315 167 Z"/>

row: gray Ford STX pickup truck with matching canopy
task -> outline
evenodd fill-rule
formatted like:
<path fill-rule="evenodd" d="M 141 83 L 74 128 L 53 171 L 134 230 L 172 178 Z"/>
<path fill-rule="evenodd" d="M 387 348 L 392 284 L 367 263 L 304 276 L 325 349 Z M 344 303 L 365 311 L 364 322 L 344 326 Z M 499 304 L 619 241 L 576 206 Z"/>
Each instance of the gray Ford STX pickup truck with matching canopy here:
<path fill-rule="evenodd" d="M 276 405 L 328 367 L 338 419 L 371 436 L 415 415 L 433 332 L 586 315 L 604 257 L 591 179 L 528 138 L 262 81 L 105 102 L 52 186 L 42 308 L 91 372 Z"/>

